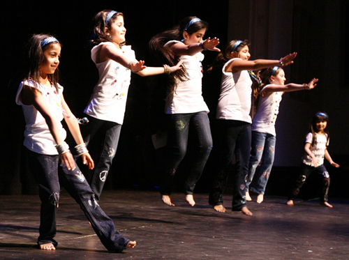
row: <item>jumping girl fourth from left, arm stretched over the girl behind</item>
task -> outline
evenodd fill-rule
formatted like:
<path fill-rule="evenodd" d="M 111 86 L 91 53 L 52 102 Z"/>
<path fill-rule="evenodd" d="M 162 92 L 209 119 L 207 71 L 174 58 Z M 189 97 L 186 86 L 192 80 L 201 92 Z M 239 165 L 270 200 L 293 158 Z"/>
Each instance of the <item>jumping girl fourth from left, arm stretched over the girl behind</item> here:
<path fill-rule="evenodd" d="M 246 178 L 251 149 L 251 77 L 258 79 L 251 70 L 272 66 L 287 66 L 297 53 L 288 54 L 280 60 L 258 59 L 248 61 L 248 40 L 232 40 L 218 54 L 216 64 L 222 68 L 221 95 L 217 106 L 216 167 L 209 194 L 209 204 L 214 210 L 225 213 L 223 191 L 228 181 L 232 158 L 236 158 L 236 176 L 232 211 L 252 215 L 246 207 Z M 250 77 L 251 76 L 251 77 Z"/>

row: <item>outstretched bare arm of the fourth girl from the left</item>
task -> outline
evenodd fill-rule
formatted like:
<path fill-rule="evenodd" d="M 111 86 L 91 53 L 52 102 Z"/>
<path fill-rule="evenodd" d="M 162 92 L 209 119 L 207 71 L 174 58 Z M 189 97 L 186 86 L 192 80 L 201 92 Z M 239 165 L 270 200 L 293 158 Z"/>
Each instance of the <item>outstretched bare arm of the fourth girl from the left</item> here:
<path fill-rule="evenodd" d="M 246 61 L 236 59 L 232 61 L 227 68 L 227 72 L 237 72 L 240 70 L 261 70 L 262 68 L 271 68 L 274 66 L 288 66 L 293 63 L 293 59 L 297 56 L 297 52 L 293 52 L 284 56 L 279 61 L 270 59 L 256 59 L 255 61 Z"/>

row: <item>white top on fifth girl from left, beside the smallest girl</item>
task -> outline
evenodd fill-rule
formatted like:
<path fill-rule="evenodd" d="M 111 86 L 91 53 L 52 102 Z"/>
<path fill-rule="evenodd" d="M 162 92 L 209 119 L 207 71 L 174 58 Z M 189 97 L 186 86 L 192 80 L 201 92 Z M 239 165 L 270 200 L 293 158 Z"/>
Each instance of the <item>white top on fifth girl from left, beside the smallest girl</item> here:
<path fill-rule="evenodd" d="M 270 85 L 265 86 L 263 89 Z M 258 101 L 257 112 L 253 118 L 251 130 L 256 132 L 266 132 L 276 136 L 275 122 L 279 114 L 279 105 L 282 100 L 282 92 L 273 92 L 267 98 Z"/>

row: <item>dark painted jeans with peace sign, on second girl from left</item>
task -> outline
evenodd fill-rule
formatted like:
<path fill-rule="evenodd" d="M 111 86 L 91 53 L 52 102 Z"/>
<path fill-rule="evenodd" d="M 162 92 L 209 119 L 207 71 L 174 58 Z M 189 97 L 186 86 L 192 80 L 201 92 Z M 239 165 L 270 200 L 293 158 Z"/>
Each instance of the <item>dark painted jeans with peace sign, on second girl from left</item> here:
<path fill-rule="evenodd" d="M 95 168 L 89 182 L 91 189 L 96 196 L 96 200 L 99 201 L 107 174 L 112 166 L 112 160 L 117 152 L 117 145 L 119 143 L 119 137 L 121 132 L 121 125 L 110 121 L 101 120 L 92 116 L 87 116 L 89 123 L 81 128 L 82 138 L 86 145 L 97 134 L 103 134 L 101 137 L 101 145 L 98 147 L 98 155 L 95 160 Z M 90 149 L 90 147 L 88 146 Z"/>

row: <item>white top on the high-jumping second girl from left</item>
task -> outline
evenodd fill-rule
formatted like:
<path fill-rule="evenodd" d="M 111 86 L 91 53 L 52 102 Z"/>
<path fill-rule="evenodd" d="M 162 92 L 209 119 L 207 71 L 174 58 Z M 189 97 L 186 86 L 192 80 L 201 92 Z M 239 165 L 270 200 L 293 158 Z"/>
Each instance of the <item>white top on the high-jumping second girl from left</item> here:
<path fill-rule="evenodd" d="M 112 59 L 97 63 L 102 45 L 117 48 L 113 43 L 105 42 L 91 49 L 91 59 L 98 68 L 99 80 L 84 113 L 101 120 L 122 124 L 124 123 L 128 86 L 131 82 L 131 70 Z M 124 45 L 121 49 L 129 59 L 135 60 L 135 52 L 131 46 Z"/>

